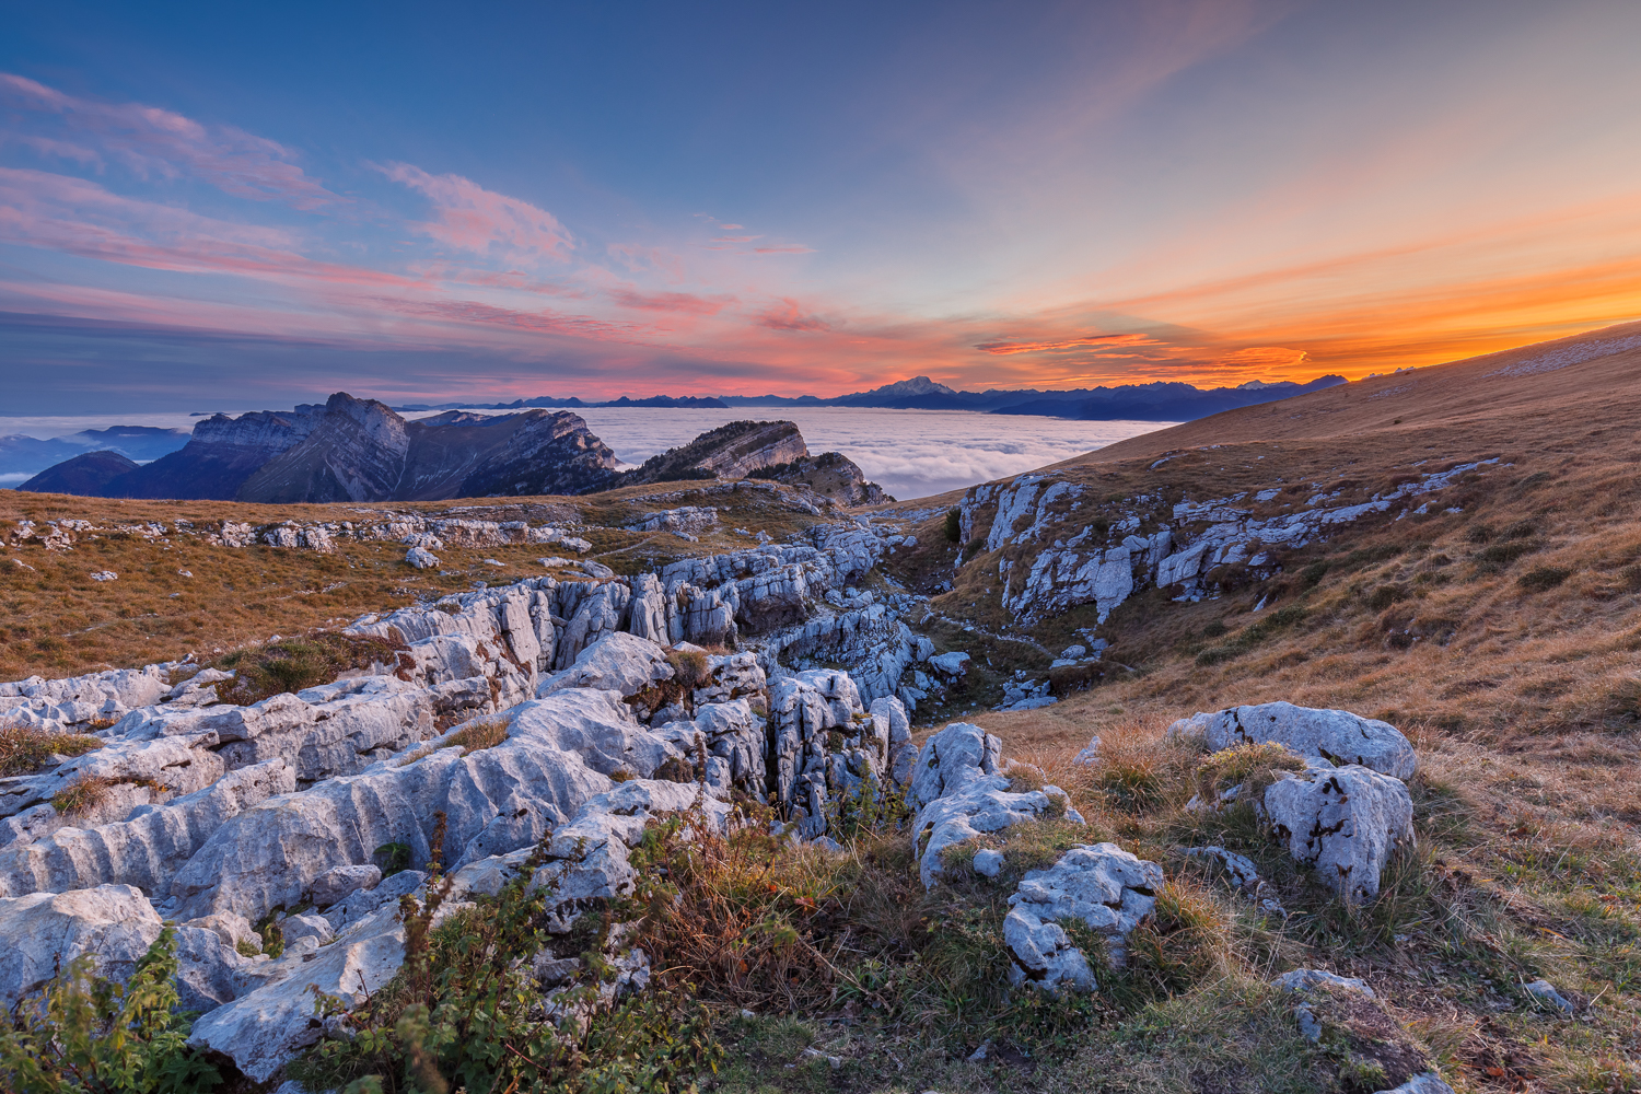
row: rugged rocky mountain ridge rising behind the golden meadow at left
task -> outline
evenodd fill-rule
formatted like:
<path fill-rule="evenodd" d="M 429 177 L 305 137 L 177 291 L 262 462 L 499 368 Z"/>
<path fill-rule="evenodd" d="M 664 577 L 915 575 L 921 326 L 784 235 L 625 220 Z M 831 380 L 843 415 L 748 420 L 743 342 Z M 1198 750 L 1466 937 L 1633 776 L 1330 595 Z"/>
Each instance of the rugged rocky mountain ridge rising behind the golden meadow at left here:
<path fill-rule="evenodd" d="M 422 502 L 592 494 L 763 472 L 760 477 L 802 482 L 843 504 L 876 490 L 839 453 L 812 461 L 791 422 L 730 422 L 638 467 L 619 471 L 617 463 L 581 415 L 568 410 L 446 410 L 407 422 L 374 399 L 338 392 L 323 405 L 213 415 L 194 426 L 187 444 L 148 464 L 112 449 L 80 453 L 18 489 L 261 504 Z M 875 497 L 881 499 L 881 490 Z"/>

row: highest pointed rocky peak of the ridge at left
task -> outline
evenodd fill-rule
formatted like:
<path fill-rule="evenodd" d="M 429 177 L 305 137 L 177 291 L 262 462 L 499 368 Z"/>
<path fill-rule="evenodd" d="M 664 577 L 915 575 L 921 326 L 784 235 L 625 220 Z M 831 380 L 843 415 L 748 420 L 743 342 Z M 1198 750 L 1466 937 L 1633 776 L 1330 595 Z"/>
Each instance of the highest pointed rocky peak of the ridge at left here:
<path fill-rule="evenodd" d="M 246 479 L 238 500 L 389 500 L 409 449 L 404 418 L 374 399 L 336 392 L 313 431 Z"/>

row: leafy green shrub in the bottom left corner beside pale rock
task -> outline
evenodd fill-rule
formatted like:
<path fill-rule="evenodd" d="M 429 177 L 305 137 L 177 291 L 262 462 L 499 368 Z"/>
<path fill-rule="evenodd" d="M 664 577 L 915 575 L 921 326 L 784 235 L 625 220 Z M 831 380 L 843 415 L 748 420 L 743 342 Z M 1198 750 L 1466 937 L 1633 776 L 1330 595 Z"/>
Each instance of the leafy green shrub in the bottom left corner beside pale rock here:
<path fill-rule="evenodd" d="M 177 933 L 166 927 L 126 984 L 69 963 L 38 1001 L 0 1020 L 0 1087 L 30 1094 L 203 1094 L 222 1076 L 187 1048 Z M 36 1005 L 38 1002 L 38 1005 Z"/>

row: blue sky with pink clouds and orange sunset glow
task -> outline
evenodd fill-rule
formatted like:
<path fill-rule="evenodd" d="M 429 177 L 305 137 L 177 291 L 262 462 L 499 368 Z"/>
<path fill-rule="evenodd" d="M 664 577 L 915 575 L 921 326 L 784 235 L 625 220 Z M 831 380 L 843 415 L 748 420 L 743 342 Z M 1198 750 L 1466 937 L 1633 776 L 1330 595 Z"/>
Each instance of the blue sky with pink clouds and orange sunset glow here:
<path fill-rule="evenodd" d="M 1641 318 L 1630 0 L 0 25 L 0 413 L 1355 379 Z"/>

